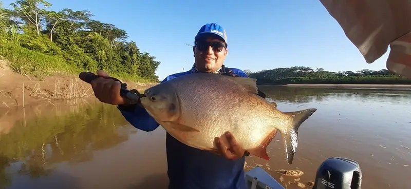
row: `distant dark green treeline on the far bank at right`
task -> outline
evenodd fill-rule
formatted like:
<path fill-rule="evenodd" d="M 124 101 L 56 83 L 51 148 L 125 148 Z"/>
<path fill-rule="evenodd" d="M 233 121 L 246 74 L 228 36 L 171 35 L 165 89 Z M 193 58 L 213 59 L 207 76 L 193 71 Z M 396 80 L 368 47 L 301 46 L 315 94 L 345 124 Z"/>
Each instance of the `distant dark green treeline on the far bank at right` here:
<path fill-rule="evenodd" d="M 323 68 L 294 66 L 276 68 L 252 73 L 246 70 L 249 77 L 256 78 L 258 84 L 411 84 L 411 79 L 392 73 L 386 69 L 362 69 L 356 72 L 329 72 Z"/>

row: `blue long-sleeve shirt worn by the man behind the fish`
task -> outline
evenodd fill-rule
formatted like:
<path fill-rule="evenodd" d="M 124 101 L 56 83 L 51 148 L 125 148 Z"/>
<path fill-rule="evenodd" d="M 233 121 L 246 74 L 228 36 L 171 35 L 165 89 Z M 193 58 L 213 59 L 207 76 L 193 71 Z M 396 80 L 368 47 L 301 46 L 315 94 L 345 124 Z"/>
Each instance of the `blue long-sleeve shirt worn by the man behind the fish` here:
<path fill-rule="evenodd" d="M 239 77 L 248 77 L 239 69 L 230 69 Z M 194 72 L 192 69 L 176 73 L 167 76 L 161 82 Z M 159 126 L 153 117 L 139 106 L 131 112 L 121 109 L 120 111 L 125 119 L 137 129 L 150 132 Z M 165 145 L 170 189 L 247 188 L 244 173 L 245 158 L 228 160 L 223 156 L 185 145 L 168 133 Z"/>

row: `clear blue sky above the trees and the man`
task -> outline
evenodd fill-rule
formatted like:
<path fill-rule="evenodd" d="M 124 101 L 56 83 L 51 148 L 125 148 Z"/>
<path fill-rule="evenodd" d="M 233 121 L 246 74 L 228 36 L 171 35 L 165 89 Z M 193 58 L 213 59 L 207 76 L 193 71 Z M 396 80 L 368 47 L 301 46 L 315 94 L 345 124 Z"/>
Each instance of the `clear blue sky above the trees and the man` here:
<path fill-rule="evenodd" d="M 14 1 L 3 1 L 8 5 Z M 225 65 L 253 72 L 308 66 L 328 71 L 385 69 L 386 53 L 367 64 L 319 1 L 97 1 L 49 0 L 50 10 L 88 10 L 92 19 L 125 30 L 142 52 L 161 64 L 157 75 L 191 68 L 191 47 L 206 23 L 228 35 Z"/>

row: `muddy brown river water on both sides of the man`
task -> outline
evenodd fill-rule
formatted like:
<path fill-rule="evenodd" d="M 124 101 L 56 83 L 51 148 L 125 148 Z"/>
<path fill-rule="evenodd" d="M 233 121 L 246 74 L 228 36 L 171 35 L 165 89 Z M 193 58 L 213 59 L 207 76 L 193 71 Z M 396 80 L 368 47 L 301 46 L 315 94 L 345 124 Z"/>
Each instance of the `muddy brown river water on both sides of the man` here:
<path fill-rule="evenodd" d="M 282 111 L 317 108 L 292 165 L 278 134 L 271 160 L 248 157 L 286 188 L 311 188 L 328 157 L 360 163 L 363 188 L 411 188 L 411 91 L 260 86 Z M 165 132 L 136 130 L 94 99 L 0 112 L 0 188 L 166 188 Z M 300 170 L 301 177 L 276 170 Z M 300 182 L 299 185 L 297 185 Z"/>

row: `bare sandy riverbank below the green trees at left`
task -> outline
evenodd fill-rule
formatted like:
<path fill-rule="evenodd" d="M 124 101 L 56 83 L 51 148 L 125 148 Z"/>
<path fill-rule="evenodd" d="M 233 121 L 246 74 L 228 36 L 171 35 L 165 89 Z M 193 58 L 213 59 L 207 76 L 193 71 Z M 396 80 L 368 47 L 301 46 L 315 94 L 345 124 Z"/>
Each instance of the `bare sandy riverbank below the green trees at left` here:
<path fill-rule="evenodd" d="M 40 101 L 94 97 L 91 86 L 80 80 L 78 75 L 65 74 L 34 77 L 13 72 L 6 61 L 0 60 L 0 112 L 30 106 Z M 143 90 L 157 83 L 127 83 L 128 89 Z"/>

